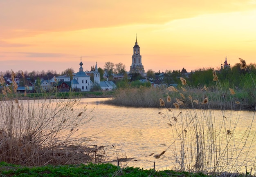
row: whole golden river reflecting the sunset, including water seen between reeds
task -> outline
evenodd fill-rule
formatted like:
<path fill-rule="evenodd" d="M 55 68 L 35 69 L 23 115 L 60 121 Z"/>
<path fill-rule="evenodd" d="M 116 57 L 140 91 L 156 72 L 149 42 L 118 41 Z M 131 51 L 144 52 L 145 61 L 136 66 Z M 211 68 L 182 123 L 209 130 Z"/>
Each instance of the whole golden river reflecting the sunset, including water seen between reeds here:
<path fill-rule="evenodd" d="M 252 169 L 253 174 L 256 172 L 256 121 L 253 111 L 137 108 L 109 105 L 104 102 L 107 99 L 110 98 L 80 100 L 78 108 L 87 109 L 82 116 L 92 119 L 75 133 L 90 137 L 89 146 L 104 146 L 105 162 L 117 165 L 119 159 L 122 167 L 241 173 L 247 166 L 247 171 Z M 71 113 L 67 115 L 69 111 L 64 111 L 63 115 L 56 111 L 58 106 L 65 106 L 65 100 L 58 104 L 56 100 L 45 100 L 51 106 L 41 104 L 43 101 L 22 100 L 18 107 L 15 102 L 2 101 L 2 123 L 6 119 L 4 113 L 9 114 L 8 110 L 17 116 L 15 125 L 26 122 L 27 114 L 23 117 L 23 113 L 33 112 L 38 106 L 38 112 L 32 115 L 40 120 L 48 119 L 44 116 L 54 116 L 56 119 L 53 121 L 58 124 L 65 121 L 60 121 L 64 117 L 72 124 L 75 117 Z M 16 115 L 19 111 L 10 108 L 24 112 Z M 2 123 L 0 127 L 4 126 Z"/>

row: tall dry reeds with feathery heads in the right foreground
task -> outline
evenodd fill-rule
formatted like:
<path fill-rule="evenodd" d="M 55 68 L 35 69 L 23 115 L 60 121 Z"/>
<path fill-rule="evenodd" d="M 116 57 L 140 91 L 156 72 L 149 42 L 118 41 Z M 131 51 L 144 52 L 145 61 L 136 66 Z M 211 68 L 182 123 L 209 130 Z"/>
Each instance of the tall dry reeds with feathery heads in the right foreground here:
<path fill-rule="evenodd" d="M 182 97 L 176 97 L 173 106 L 168 107 L 162 102 L 163 99 L 159 99 L 160 106 L 169 110 L 166 111 L 165 117 L 168 119 L 167 124 L 173 133 L 171 145 L 163 152 L 174 149 L 175 161 L 172 163 L 176 170 L 210 173 L 237 172 L 247 166 L 247 162 L 255 161 L 256 156 L 253 154 L 254 149 L 252 149 L 256 134 L 256 132 L 252 132 L 254 116 L 250 120 L 251 122 L 248 122 L 245 133 L 240 137 L 240 132 L 237 131 L 241 111 L 240 102 L 235 101 L 234 95 L 236 93 L 231 88 L 229 88 L 229 99 L 227 99 L 227 95 L 225 95 L 227 91 L 223 90 L 218 76 L 214 73 L 213 71 L 213 81 L 216 82 L 217 98 L 223 118 L 216 117 L 211 108 L 211 94 L 208 94 L 207 87 L 202 89 L 205 93 L 204 99 L 201 98 L 201 101 L 198 101 L 200 100 L 198 96 L 189 95 L 185 98 L 183 89 L 180 91 Z M 181 81 L 183 80 L 181 78 Z M 253 86 L 256 89 L 255 84 Z M 170 87 L 167 90 L 175 91 Z M 188 107 L 188 103 L 191 106 Z M 227 104 L 231 106 L 229 115 L 225 109 Z M 239 106 L 240 111 L 232 111 L 234 104 Z M 196 106 L 199 106 L 200 109 L 196 110 Z M 182 109 L 180 109 L 181 107 Z M 180 113 L 175 115 L 177 108 Z M 164 153 L 155 155 L 155 158 L 159 158 L 161 155 L 164 156 Z M 250 163 L 250 165 L 253 164 Z M 255 167 L 251 166 L 251 168 Z"/>

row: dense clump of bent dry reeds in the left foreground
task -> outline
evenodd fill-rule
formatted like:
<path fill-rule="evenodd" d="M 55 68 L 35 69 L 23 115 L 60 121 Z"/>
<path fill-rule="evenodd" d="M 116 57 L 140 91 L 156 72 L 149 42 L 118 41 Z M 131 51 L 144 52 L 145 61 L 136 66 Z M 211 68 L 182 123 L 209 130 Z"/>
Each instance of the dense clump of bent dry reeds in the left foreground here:
<path fill-rule="evenodd" d="M 1 84 L 3 81 L 1 77 Z M 90 121 L 86 106 L 79 106 L 80 99 L 51 100 L 45 93 L 42 100 L 20 100 L 14 79 L 2 93 L 0 161 L 34 166 L 85 163 L 103 157 L 104 147 L 90 148 L 87 145 L 93 137 L 79 131 Z"/>

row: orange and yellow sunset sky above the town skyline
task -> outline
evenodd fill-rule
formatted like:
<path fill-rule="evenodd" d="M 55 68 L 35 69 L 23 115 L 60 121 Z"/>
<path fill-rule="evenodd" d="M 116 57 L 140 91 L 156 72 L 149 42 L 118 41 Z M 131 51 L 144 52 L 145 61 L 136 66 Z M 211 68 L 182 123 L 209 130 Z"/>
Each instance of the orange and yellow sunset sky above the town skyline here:
<path fill-rule="evenodd" d="M 129 71 L 136 34 L 145 72 L 255 63 L 256 0 L 0 0 L 0 71 Z"/>

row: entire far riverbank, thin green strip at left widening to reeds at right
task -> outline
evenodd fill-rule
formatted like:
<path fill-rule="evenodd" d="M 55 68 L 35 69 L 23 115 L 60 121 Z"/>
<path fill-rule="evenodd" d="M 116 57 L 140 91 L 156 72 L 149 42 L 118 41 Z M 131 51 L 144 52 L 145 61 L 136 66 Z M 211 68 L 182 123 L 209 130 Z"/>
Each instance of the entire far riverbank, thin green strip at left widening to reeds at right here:
<path fill-rule="evenodd" d="M 167 96 L 171 101 L 167 102 Z M 229 90 L 220 93 L 214 89 L 189 89 L 182 88 L 180 91 L 166 91 L 164 88 L 126 88 L 115 91 L 97 91 L 97 92 L 67 92 L 67 93 L 19 93 L 12 94 L 9 99 L 18 98 L 18 100 L 42 100 L 42 99 L 67 99 L 67 98 L 109 98 L 106 104 L 117 106 L 132 107 L 163 107 L 159 104 L 159 98 L 165 100 L 166 108 L 175 108 L 174 104 L 179 103 L 179 108 L 205 109 L 211 108 L 216 110 L 243 110 L 255 111 L 256 94 L 238 90 L 236 94 L 230 94 Z M 0 95 L 2 96 L 2 95 Z M 202 104 L 203 100 L 208 98 L 207 104 Z M 2 100 L 2 98 L 1 98 Z M 176 104 L 177 105 L 177 104 Z"/>

